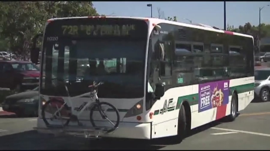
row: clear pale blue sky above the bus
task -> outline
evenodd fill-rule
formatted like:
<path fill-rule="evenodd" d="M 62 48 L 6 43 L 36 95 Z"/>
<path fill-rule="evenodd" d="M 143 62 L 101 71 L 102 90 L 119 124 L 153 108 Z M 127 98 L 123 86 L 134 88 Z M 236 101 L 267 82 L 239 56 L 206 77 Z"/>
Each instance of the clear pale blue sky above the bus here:
<path fill-rule="evenodd" d="M 158 7 L 164 12 L 164 17 L 176 16 L 179 22 L 206 24 L 220 29 L 224 27 L 223 1 L 93 1 L 99 14 L 113 16 L 151 17 L 152 4 L 153 17 L 158 17 Z M 270 24 L 270 1 L 227 1 L 226 22 L 238 28 L 250 22 L 259 24 L 259 8 L 261 10 L 261 23 Z M 185 19 L 184 19 L 185 18 Z"/>

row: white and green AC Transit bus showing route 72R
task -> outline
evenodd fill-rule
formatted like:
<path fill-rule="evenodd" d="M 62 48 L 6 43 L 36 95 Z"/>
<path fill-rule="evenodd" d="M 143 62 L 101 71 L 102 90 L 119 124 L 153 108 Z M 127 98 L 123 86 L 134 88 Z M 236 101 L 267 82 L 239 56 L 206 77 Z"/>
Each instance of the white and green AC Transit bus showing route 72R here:
<path fill-rule="evenodd" d="M 45 101 L 67 100 L 54 78 L 71 83 L 70 98 L 86 93 L 85 83 L 104 81 L 98 97 L 119 110 L 120 124 L 101 137 L 183 138 L 188 130 L 220 118 L 233 121 L 253 99 L 253 37 L 202 24 L 140 17 L 55 18 L 46 23 L 41 50 L 38 128 L 46 128 L 41 119 Z M 32 61 L 37 52 L 32 51 Z M 72 99 L 74 107 L 87 99 Z M 91 126 L 89 110 L 80 120 Z"/>

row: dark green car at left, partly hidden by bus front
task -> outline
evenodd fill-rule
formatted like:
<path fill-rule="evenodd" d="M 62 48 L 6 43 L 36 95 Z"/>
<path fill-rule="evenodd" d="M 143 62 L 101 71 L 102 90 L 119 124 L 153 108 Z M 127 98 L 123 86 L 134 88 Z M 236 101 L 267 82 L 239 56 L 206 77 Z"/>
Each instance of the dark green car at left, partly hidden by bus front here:
<path fill-rule="evenodd" d="M 17 116 L 38 116 L 39 87 L 33 90 L 9 95 L 2 103 L 4 111 L 16 113 Z"/>

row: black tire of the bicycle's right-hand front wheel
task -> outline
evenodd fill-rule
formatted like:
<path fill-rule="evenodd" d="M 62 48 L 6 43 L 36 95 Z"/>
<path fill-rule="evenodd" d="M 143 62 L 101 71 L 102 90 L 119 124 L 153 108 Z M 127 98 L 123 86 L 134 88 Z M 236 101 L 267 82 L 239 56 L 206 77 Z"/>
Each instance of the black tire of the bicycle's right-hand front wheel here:
<path fill-rule="evenodd" d="M 119 115 L 119 111 L 116 109 L 116 107 L 114 107 L 112 104 L 110 104 L 110 103 L 108 103 L 108 102 L 100 102 L 100 103 L 99 103 L 99 105 L 102 105 L 102 104 L 110 106 L 111 108 L 113 108 L 114 112 L 116 112 L 116 115 L 117 115 L 117 121 L 116 121 L 116 124 L 115 124 L 114 128 L 112 128 L 112 129 L 110 129 L 110 130 L 107 130 L 108 133 L 109 133 L 109 132 L 113 132 L 113 131 L 118 127 L 118 125 L 119 125 L 119 123 L 120 123 L 120 115 Z M 96 124 L 95 124 L 95 122 L 94 122 L 94 120 L 93 120 L 93 112 L 94 112 L 94 110 L 95 110 L 96 107 L 98 107 L 98 104 L 95 104 L 95 105 L 91 108 L 91 110 L 90 110 L 90 122 L 91 122 L 91 124 L 92 124 L 93 127 L 96 127 Z M 103 111 L 101 111 L 101 112 L 103 112 Z"/>

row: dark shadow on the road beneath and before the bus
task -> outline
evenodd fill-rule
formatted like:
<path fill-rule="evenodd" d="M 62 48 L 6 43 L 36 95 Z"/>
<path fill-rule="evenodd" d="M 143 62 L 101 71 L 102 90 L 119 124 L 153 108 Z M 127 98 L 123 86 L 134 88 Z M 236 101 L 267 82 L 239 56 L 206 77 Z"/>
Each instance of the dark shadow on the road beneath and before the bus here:
<path fill-rule="evenodd" d="M 190 130 L 183 140 L 224 122 L 227 122 L 226 118 Z M 92 140 L 74 136 L 54 137 L 31 130 L 0 136 L 0 142 L 5 142 L 0 143 L 2 150 L 159 150 L 182 141 L 176 137 L 157 138 L 151 141 L 121 138 Z"/>

